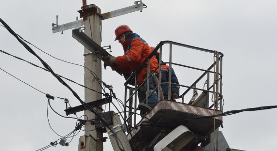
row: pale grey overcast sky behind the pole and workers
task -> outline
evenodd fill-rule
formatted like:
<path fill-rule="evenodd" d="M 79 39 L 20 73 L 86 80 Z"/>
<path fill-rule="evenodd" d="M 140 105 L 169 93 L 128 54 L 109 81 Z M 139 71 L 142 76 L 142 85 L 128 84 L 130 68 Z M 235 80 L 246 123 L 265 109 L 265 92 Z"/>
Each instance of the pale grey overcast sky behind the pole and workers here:
<path fill-rule="evenodd" d="M 122 55 L 121 45 L 114 41 L 114 30 L 129 25 L 150 45 L 170 40 L 220 51 L 223 58 L 224 111 L 276 105 L 277 96 L 277 2 L 276 0 L 143 0 L 147 8 L 107 20 L 102 24 L 102 46 L 111 45 L 114 56 Z M 96 4 L 102 13 L 131 6 L 131 0 L 87 0 Z M 2 0 L 0 18 L 17 34 L 52 56 L 69 62 L 84 63 L 84 47 L 71 36 L 71 30 L 52 33 L 52 23 L 76 20 L 82 0 Z M 53 71 L 84 84 L 84 69 L 65 63 L 32 47 Z M 208 68 L 212 55 L 191 49 L 173 50 L 173 61 Z M 14 36 L 0 26 L 0 50 L 42 64 Z M 166 60 L 166 59 L 165 59 Z M 208 63 L 207 63 L 208 62 Z M 71 106 L 80 105 L 72 93 L 50 73 L 26 62 L 0 53 L 0 68 L 30 84 L 43 93 L 68 98 Z M 0 70 L 0 117 L 2 151 L 35 151 L 67 135 L 76 121 L 59 117 L 49 110 L 47 120 L 45 94 L 20 82 Z M 174 67 L 180 83 L 191 85 L 200 73 Z M 102 79 L 114 86 L 117 97 L 124 100 L 123 77 L 107 68 Z M 66 81 L 84 100 L 84 88 Z M 202 87 L 202 84 L 199 86 Z M 182 90 L 183 91 L 183 90 Z M 199 92 L 198 92 L 199 93 Z M 200 92 L 201 93 L 201 92 Z M 191 95 L 185 100 L 189 102 Z M 64 101 L 51 100 L 51 105 L 65 115 Z M 77 116 L 82 116 L 78 113 Z M 230 148 L 246 151 L 272 151 L 277 141 L 277 109 L 242 112 L 224 117 L 223 132 Z M 69 147 L 50 147 L 48 151 L 76 151 L 81 131 Z M 69 140 L 69 139 L 68 139 Z M 109 142 L 104 151 L 110 151 Z"/>

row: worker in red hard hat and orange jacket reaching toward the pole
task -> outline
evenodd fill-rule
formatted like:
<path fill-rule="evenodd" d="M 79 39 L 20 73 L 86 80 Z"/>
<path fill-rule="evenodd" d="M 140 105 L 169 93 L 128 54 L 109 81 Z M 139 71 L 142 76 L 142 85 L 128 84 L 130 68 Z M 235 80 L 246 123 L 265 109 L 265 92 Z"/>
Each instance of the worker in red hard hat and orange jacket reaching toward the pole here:
<path fill-rule="evenodd" d="M 123 56 L 108 56 L 107 60 L 110 64 L 112 64 L 112 70 L 115 70 L 119 73 L 130 73 L 135 72 L 138 67 L 141 65 L 149 54 L 152 52 L 150 46 L 146 43 L 145 40 L 139 37 L 137 33 L 133 33 L 133 31 L 127 25 L 121 25 L 115 30 L 115 41 L 118 40 L 121 43 L 124 55 Z M 156 58 L 153 56 L 150 59 L 150 73 L 153 72 L 158 67 L 158 62 Z M 149 77 L 149 93 L 154 91 L 155 83 L 153 76 L 156 76 L 158 73 L 158 69 L 155 74 Z M 147 76 L 147 63 L 142 67 L 142 69 L 138 72 L 137 76 L 137 85 L 141 85 Z M 146 101 L 142 102 L 146 98 L 146 88 L 147 82 L 144 82 L 144 85 L 138 89 L 138 109 L 141 110 L 140 114 L 144 115 L 146 112 L 150 111 L 152 107 L 154 107 L 157 103 L 157 93 L 153 92 L 148 97 L 148 102 L 146 105 Z"/>

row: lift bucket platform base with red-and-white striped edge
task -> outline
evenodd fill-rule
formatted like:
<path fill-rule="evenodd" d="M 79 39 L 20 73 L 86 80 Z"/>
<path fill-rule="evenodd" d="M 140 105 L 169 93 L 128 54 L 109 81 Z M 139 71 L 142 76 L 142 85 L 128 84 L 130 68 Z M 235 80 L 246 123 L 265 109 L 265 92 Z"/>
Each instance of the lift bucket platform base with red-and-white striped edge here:
<path fill-rule="evenodd" d="M 214 119 L 190 118 L 221 113 L 219 110 L 162 100 L 138 122 L 127 138 L 133 151 L 143 150 L 146 144 L 147 146 L 155 145 L 153 141 L 157 140 L 161 133 L 167 135 L 179 125 L 186 126 L 197 138 L 204 138 L 213 132 Z M 222 123 L 222 117 L 215 117 L 215 128 Z"/>

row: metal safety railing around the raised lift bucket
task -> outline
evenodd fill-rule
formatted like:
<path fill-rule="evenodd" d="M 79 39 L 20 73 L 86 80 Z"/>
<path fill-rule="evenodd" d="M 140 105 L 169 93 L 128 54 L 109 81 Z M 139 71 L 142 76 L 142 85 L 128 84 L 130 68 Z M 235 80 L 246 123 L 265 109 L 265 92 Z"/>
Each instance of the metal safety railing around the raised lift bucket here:
<path fill-rule="evenodd" d="M 163 45 L 168 44 L 169 45 L 169 61 L 168 62 L 162 62 L 162 53 L 163 51 Z M 183 65 L 183 64 L 178 64 L 173 62 L 172 59 L 172 54 L 173 54 L 173 45 L 177 45 L 177 46 L 181 46 L 181 47 L 186 47 L 186 48 L 190 48 L 190 49 L 194 49 L 194 50 L 198 50 L 198 51 L 202 51 L 202 52 L 206 52 L 206 53 L 211 53 L 214 54 L 214 61 L 213 63 L 210 65 L 210 67 L 208 67 L 208 69 L 200 69 L 200 68 L 196 68 L 196 67 L 191 67 L 188 65 Z M 153 72 L 149 72 L 150 71 L 150 59 L 156 54 L 156 52 L 159 50 L 159 66 L 156 68 L 155 71 Z M 222 58 L 223 58 L 223 54 L 221 52 L 218 51 L 212 51 L 212 50 L 208 50 L 208 49 L 204 49 L 204 48 L 199 48 L 199 47 L 195 47 L 195 46 L 190 46 L 190 45 L 184 45 L 184 44 L 180 44 L 180 43 L 176 43 L 176 42 L 172 42 L 172 41 L 162 41 L 160 42 L 156 48 L 152 51 L 152 53 L 141 63 L 141 65 L 138 67 L 138 69 L 132 73 L 129 78 L 126 80 L 126 82 L 124 83 L 125 85 L 125 96 L 124 96 L 124 121 L 126 121 L 129 125 L 128 130 L 130 130 L 132 128 L 131 125 L 136 125 L 137 123 L 137 115 L 139 115 L 138 113 L 138 108 L 137 108 L 137 91 L 143 87 L 144 83 L 146 82 L 146 99 L 144 100 L 144 102 L 146 101 L 145 104 L 147 104 L 148 102 L 148 97 L 154 93 L 155 91 L 157 92 L 158 95 L 158 101 L 160 101 L 161 98 L 161 85 L 163 84 L 168 84 L 168 91 L 167 92 L 163 92 L 163 93 L 168 93 L 168 100 L 171 100 L 171 87 L 172 86 L 179 86 L 179 87 L 183 87 L 183 88 L 187 88 L 183 93 L 181 93 L 180 91 L 180 95 L 179 98 L 182 98 L 182 103 L 185 103 L 185 96 L 188 95 L 188 92 L 193 90 L 193 96 L 190 100 L 190 102 L 188 102 L 191 105 L 196 105 L 197 106 L 197 101 L 205 98 L 206 103 L 203 107 L 209 107 L 211 108 L 212 106 L 215 107 L 215 109 L 219 109 L 220 111 L 223 111 L 223 97 L 222 97 Z M 137 74 L 138 72 L 145 67 L 145 65 L 147 64 L 147 77 L 145 78 L 145 81 L 137 86 Z M 169 79 L 168 82 L 163 82 L 161 83 L 161 65 L 162 64 L 169 64 Z M 198 70 L 203 72 L 203 74 L 196 79 L 195 82 L 193 82 L 191 85 L 183 85 L 183 84 L 177 84 L 177 83 L 172 83 L 171 82 L 171 73 L 172 73 L 172 65 L 176 65 L 179 67 L 184 67 L 184 68 L 190 68 L 193 70 Z M 156 85 L 154 91 L 152 91 L 150 94 L 148 92 L 149 90 L 149 77 L 152 76 L 154 73 L 156 73 L 157 69 L 159 69 L 159 74 L 158 74 L 158 85 Z M 211 71 L 213 69 L 213 71 Z M 214 76 L 213 79 L 213 84 L 210 86 L 210 74 L 212 74 Z M 206 77 L 206 78 L 205 78 Z M 205 85 L 204 88 L 198 88 L 196 87 L 197 84 L 199 84 L 200 80 L 205 80 L 205 85 L 207 86 L 207 89 L 205 89 Z M 131 86 L 130 84 L 133 83 L 134 86 Z M 212 91 L 211 91 L 212 89 Z M 198 96 L 197 94 L 197 90 L 198 91 L 202 91 L 202 94 Z M 212 105 L 209 106 L 209 93 L 212 93 L 213 96 L 215 96 L 214 100 L 212 100 Z M 127 97 L 128 95 L 128 97 Z M 197 97 L 198 96 L 198 97 Z"/>

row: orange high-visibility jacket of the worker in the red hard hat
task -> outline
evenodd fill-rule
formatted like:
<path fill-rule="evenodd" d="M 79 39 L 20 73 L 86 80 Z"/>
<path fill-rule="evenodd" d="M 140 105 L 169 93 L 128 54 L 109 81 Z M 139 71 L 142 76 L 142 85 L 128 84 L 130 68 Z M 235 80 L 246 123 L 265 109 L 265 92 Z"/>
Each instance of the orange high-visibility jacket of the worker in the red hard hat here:
<path fill-rule="evenodd" d="M 132 33 L 131 38 L 125 40 L 122 44 L 124 49 L 124 55 L 116 58 L 117 65 L 120 66 L 121 73 L 128 73 L 130 71 L 135 72 L 138 69 L 138 66 L 141 64 L 141 62 L 144 61 L 152 52 L 152 49 L 150 48 L 150 46 L 146 42 L 143 42 L 141 39 L 134 38 L 131 41 L 133 37 L 139 37 L 139 35 L 136 33 Z M 127 50 L 127 47 L 130 41 L 131 41 L 130 49 Z M 157 67 L 158 67 L 157 59 L 153 56 L 150 59 L 150 72 L 154 71 Z M 159 71 L 157 69 L 156 73 L 158 72 Z M 144 81 L 146 74 L 147 74 L 147 63 L 138 72 L 138 79 L 137 79 L 138 86 Z"/>

